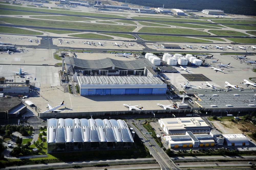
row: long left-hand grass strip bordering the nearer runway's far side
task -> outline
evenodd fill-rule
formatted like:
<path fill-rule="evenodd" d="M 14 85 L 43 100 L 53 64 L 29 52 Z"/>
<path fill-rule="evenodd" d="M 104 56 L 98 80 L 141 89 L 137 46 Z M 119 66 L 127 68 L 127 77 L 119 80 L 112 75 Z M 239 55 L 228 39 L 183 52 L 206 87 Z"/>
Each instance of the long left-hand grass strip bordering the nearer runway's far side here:
<path fill-rule="evenodd" d="M 11 24 L 18 24 L 21 26 L 44 26 L 52 28 L 76 28 L 88 30 L 104 30 L 104 31 L 133 31 L 135 26 L 119 26 L 119 25 L 103 25 L 103 24 L 90 24 L 78 22 L 65 22 L 65 21 L 48 21 L 37 19 L 24 19 L 24 18 L 0 18 L 0 21 L 9 22 Z"/>

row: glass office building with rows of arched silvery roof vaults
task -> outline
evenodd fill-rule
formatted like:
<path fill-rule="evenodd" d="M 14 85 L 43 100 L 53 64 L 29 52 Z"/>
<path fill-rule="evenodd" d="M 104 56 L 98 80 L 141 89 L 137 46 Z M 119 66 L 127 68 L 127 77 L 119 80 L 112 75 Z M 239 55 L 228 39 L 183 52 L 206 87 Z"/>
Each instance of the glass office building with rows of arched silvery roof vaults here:
<path fill-rule="evenodd" d="M 121 119 L 47 120 L 47 153 L 132 149 L 133 138 Z"/>

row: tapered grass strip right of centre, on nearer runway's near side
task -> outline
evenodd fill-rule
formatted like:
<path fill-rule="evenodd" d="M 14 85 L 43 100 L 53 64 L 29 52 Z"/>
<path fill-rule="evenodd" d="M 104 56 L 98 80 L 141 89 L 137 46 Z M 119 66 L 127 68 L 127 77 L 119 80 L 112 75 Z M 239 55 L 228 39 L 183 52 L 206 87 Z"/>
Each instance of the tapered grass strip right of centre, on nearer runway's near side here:
<path fill-rule="evenodd" d="M 212 42 L 207 40 L 200 40 L 195 38 L 178 37 L 178 36 L 154 36 L 154 35 L 138 35 L 144 40 L 148 41 L 169 41 L 169 42 Z"/>

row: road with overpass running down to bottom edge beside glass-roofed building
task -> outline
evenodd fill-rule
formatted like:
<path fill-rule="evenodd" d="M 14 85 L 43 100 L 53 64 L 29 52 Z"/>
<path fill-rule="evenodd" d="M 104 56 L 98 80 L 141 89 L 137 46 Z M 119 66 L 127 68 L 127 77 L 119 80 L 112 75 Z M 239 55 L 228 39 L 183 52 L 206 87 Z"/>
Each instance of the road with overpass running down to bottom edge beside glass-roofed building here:
<path fill-rule="evenodd" d="M 164 150 L 159 147 L 150 134 L 145 134 L 145 136 L 143 136 L 142 133 L 146 133 L 147 130 L 139 123 L 140 121 L 135 122 L 137 127 L 132 124 L 132 119 L 127 119 L 127 122 L 127 124 L 136 132 L 138 137 L 144 142 L 145 146 L 148 148 L 157 163 L 161 166 L 162 170 L 179 170 L 177 165 L 170 159 Z M 139 129 L 142 129 L 142 131 Z"/>

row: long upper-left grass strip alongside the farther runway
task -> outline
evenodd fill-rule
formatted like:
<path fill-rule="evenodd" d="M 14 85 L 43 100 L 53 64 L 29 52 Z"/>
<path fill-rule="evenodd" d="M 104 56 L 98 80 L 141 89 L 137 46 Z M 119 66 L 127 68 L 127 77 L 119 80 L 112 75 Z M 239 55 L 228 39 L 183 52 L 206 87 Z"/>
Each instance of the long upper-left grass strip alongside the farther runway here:
<path fill-rule="evenodd" d="M 56 13 L 57 15 L 70 14 L 70 15 L 80 15 L 80 16 L 89 16 L 89 17 L 110 17 L 110 18 L 120 18 L 120 19 L 125 18 L 123 16 L 111 15 L 111 14 L 85 13 L 85 12 L 74 12 L 74 11 L 65 11 L 65 10 L 39 9 L 39 8 L 10 6 L 10 5 L 3 5 L 3 4 L 0 5 L 0 8 L 9 9 L 9 14 L 5 14 L 5 15 L 16 15 L 16 14 L 13 14 L 13 11 L 11 9 L 17 9 L 17 10 L 27 10 L 27 11 L 35 11 L 35 12 Z M 1 10 L 3 10 L 3 9 L 1 9 Z M 19 12 L 19 11 L 17 11 L 17 12 Z M 27 15 L 37 15 L 37 14 L 30 13 L 30 14 L 27 14 Z M 48 14 L 41 14 L 41 15 L 48 15 Z"/>

